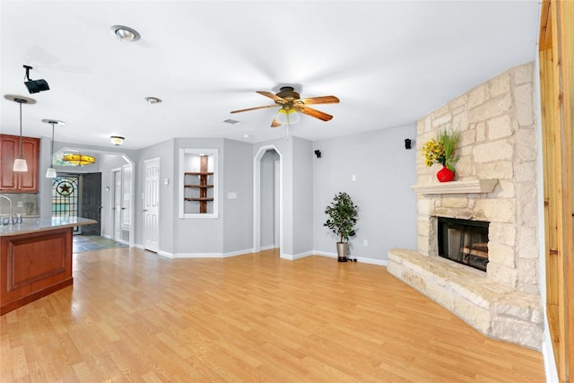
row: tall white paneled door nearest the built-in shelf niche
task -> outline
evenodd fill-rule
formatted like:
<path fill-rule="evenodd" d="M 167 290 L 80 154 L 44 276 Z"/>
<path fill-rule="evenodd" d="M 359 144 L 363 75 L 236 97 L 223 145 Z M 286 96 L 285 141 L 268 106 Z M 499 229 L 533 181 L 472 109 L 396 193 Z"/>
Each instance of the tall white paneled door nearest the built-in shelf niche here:
<path fill-rule="evenodd" d="M 144 161 L 143 248 L 158 252 L 160 239 L 160 159 Z"/>

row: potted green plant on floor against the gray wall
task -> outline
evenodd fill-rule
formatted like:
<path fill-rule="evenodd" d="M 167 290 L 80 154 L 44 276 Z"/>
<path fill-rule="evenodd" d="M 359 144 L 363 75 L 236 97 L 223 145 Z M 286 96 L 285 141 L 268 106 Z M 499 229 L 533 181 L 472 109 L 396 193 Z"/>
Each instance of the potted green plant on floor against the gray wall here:
<path fill-rule="evenodd" d="M 349 238 L 355 235 L 358 207 L 352 203 L 351 196 L 339 192 L 333 198 L 331 205 L 326 206 L 325 213 L 328 216 L 323 226 L 333 231 L 339 237 L 337 242 L 337 260 L 347 262 L 349 251 Z"/>

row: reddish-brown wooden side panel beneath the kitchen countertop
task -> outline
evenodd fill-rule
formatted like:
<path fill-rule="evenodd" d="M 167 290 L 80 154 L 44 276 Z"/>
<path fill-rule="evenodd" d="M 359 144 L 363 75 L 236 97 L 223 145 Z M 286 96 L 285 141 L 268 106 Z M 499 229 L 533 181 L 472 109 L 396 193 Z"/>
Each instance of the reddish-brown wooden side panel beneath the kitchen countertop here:
<path fill-rule="evenodd" d="M 72 229 L 2 237 L 0 314 L 72 284 Z"/>

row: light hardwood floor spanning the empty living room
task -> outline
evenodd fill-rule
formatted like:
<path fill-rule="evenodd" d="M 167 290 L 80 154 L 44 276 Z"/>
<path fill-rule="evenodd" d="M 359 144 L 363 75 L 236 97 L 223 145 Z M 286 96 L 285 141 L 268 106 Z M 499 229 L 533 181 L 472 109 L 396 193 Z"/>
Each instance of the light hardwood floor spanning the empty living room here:
<path fill-rule="evenodd" d="M 74 254 L 74 286 L 0 317 L 2 381 L 544 382 L 378 265 L 265 251 Z"/>

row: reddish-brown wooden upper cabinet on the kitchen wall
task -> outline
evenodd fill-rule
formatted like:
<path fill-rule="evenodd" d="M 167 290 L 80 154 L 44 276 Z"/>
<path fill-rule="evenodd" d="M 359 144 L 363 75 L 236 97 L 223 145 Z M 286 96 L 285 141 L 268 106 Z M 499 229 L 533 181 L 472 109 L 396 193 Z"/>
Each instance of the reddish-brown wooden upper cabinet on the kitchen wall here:
<path fill-rule="evenodd" d="M 14 172 L 20 154 L 20 136 L 0 135 L 0 193 L 38 193 L 39 138 L 22 137 L 22 156 L 28 171 Z"/>

